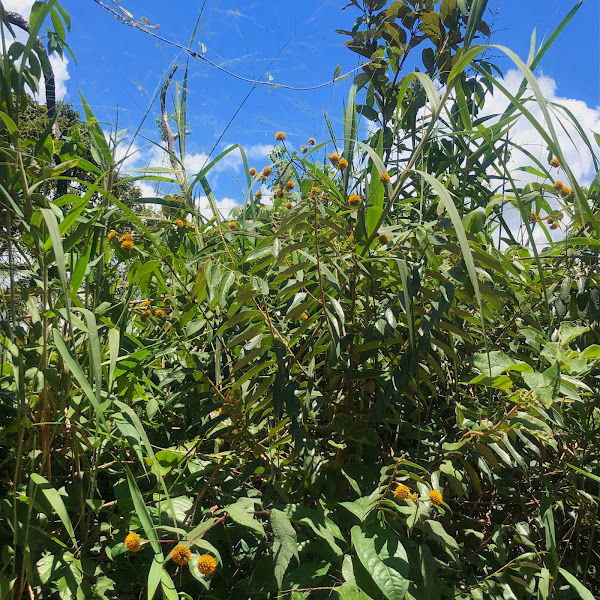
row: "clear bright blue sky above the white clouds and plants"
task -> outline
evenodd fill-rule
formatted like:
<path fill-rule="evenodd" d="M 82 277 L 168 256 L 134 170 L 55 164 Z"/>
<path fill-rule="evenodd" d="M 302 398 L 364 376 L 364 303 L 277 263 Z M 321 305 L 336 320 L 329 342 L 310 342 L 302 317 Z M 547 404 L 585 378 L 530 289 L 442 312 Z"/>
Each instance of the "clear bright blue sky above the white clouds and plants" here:
<path fill-rule="evenodd" d="M 111 5 L 111 0 L 104 0 Z M 25 12 L 32 0 L 4 0 L 7 8 Z M 343 46 L 347 39 L 336 29 L 350 29 L 358 11 L 340 10 L 344 0 L 121 0 L 136 17 L 160 24 L 158 33 L 187 45 L 202 10 L 194 48 L 206 47 L 212 61 L 244 77 L 256 78 L 264 71 L 274 83 L 312 86 L 331 79 L 336 65 L 346 72 L 358 65 L 358 57 Z M 118 119 L 119 127 L 135 131 L 144 115 L 141 133 L 158 139 L 158 103 L 152 102 L 169 66 L 180 52 L 115 20 L 92 0 L 62 0 L 71 14 L 70 44 L 77 64 L 59 65 L 66 99 L 78 105 L 81 90 L 96 116 L 106 123 Z M 574 0 L 490 0 L 487 21 L 493 41 L 527 56 L 531 32 L 537 29 L 538 44 L 574 4 Z M 546 89 L 558 99 L 570 99 L 585 113 L 591 127 L 600 130 L 600 2 L 585 0 L 583 6 L 547 54 L 539 75 Z M 497 63 L 510 68 L 500 54 Z M 68 79 L 67 79 L 68 77 Z M 248 148 L 252 164 L 265 164 L 273 134 L 284 130 L 299 147 L 308 137 L 328 137 L 323 110 L 339 123 L 351 79 L 315 91 L 290 91 L 257 86 L 228 130 L 225 126 L 251 91 L 252 84 L 216 71 L 203 61 L 192 60 L 189 78 L 188 149 L 190 166 L 201 166 L 220 136 L 218 150 L 232 143 Z M 136 166 L 158 161 L 142 139 L 136 142 Z M 133 164 L 131 161 L 129 164 Z M 230 161 L 212 183 L 220 198 L 241 199 L 239 165 Z"/>

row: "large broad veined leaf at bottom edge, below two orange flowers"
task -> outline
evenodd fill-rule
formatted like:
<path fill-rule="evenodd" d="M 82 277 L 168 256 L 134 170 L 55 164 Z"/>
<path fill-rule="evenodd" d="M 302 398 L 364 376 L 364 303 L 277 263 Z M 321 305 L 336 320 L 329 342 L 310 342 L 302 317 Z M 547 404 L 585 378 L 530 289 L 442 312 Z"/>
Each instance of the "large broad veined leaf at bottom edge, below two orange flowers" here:
<path fill-rule="evenodd" d="M 408 556 L 395 532 L 373 526 L 352 528 L 352 545 L 373 581 L 388 600 L 402 600 L 408 590 Z"/>

